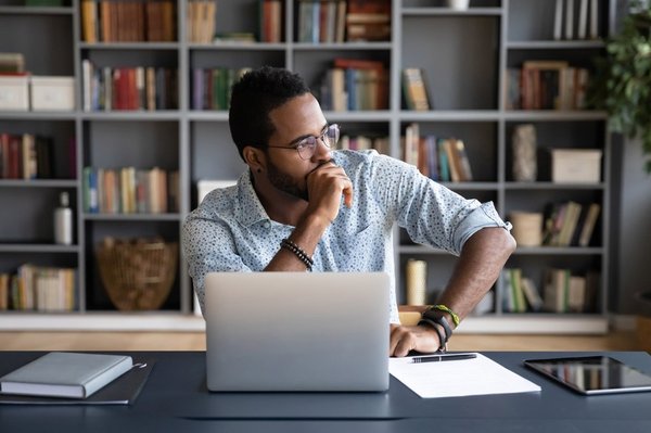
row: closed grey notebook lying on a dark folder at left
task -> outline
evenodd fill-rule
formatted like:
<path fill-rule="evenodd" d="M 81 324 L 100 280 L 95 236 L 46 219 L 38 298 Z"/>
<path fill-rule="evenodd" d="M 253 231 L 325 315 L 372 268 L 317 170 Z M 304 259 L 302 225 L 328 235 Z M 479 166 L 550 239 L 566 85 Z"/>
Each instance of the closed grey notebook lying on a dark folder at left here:
<path fill-rule="evenodd" d="M 0 392 L 86 398 L 132 365 L 130 356 L 51 352 L 0 378 Z"/>

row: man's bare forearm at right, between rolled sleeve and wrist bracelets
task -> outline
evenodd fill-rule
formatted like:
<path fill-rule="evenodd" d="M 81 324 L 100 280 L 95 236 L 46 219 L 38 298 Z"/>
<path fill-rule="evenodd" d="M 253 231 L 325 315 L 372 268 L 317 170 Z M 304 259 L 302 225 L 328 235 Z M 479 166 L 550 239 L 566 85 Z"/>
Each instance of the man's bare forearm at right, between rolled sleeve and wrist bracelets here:
<path fill-rule="evenodd" d="M 438 298 L 460 319 L 470 314 L 497 280 L 515 250 L 515 240 L 502 228 L 484 228 L 463 245 L 447 288 Z M 454 327 L 451 320 L 448 320 Z"/>

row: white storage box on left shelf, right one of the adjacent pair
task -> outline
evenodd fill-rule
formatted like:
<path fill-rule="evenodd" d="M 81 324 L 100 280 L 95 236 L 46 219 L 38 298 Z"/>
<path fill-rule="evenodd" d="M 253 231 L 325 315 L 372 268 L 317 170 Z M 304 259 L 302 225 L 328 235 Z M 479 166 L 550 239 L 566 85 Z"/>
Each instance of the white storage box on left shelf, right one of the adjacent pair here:
<path fill-rule="evenodd" d="M 75 78 L 31 77 L 31 110 L 75 110 Z"/>

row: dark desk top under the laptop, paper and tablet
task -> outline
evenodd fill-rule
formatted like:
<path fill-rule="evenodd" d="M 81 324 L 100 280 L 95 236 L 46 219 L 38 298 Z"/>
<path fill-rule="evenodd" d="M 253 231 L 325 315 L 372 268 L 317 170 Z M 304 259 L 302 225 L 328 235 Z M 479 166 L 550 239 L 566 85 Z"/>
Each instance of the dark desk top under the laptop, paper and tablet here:
<path fill-rule="evenodd" d="M 572 353 L 564 355 L 592 355 Z M 0 375 L 38 357 L 0 352 Z M 522 366 L 562 353 L 485 353 L 540 393 L 423 399 L 391 380 L 387 393 L 209 393 L 205 354 L 132 353 L 156 365 L 133 406 L 2 406 L 4 432 L 651 432 L 651 393 L 584 397 Z M 651 356 L 608 355 L 651 373 Z"/>

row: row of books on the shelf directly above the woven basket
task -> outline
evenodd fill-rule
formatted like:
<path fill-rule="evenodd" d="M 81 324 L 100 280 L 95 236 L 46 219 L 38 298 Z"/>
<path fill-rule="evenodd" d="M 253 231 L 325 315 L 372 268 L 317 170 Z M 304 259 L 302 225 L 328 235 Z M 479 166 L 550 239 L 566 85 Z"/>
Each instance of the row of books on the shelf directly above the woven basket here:
<path fill-rule="evenodd" d="M 82 188 L 84 211 L 90 214 L 163 214 L 179 209 L 178 171 L 86 167 Z"/>

